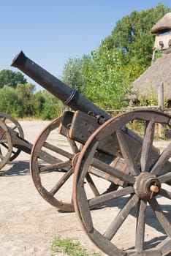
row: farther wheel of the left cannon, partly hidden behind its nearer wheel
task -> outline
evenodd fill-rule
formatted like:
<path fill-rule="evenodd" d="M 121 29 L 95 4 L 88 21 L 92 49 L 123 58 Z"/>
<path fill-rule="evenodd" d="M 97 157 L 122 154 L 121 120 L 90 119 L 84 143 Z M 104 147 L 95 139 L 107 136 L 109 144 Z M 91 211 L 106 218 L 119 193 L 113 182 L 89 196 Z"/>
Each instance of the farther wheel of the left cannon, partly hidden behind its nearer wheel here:
<path fill-rule="evenodd" d="M 9 132 L 10 129 L 12 129 L 13 131 L 17 132 L 20 138 L 24 138 L 23 129 L 15 118 L 3 112 L 0 112 L 0 118 L 1 121 L 3 121 L 5 124 L 7 124 L 7 127 L 9 127 Z M 16 157 L 18 157 L 20 151 L 21 150 L 18 148 L 12 148 L 12 154 L 9 161 L 13 161 Z"/>

